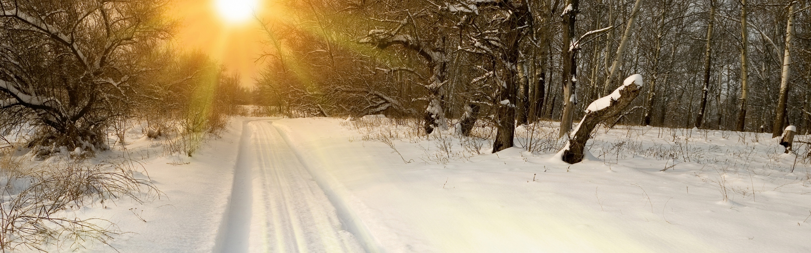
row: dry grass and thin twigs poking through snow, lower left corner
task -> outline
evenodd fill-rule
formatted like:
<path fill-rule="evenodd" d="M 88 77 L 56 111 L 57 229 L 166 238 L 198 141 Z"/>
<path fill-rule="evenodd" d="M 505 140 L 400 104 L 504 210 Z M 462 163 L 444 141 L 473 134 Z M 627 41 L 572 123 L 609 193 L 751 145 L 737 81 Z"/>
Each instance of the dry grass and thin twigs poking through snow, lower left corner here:
<path fill-rule="evenodd" d="M 21 142 L 24 143 L 24 142 Z M 108 243 L 122 232 L 113 222 L 82 218 L 77 210 L 115 199 L 148 201 L 160 192 L 135 178 L 135 161 L 94 161 L 84 153 L 37 158 L 36 149 L 0 148 L 0 251 L 65 249 Z"/>

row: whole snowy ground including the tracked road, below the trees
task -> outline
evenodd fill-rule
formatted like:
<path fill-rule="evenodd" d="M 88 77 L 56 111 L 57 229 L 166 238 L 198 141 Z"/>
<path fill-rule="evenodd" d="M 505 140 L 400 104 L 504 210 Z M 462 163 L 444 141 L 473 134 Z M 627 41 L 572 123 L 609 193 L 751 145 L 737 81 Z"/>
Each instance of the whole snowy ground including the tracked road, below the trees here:
<path fill-rule="evenodd" d="M 131 232 L 110 242 L 121 252 L 811 251 L 808 161 L 770 134 L 600 128 L 569 165 L 554 122 L 519 127 L 534 152 L 497 154 L 396 122 L 236 118 L 193 157 L 133 129 L 106 155 L 130 154 L 163 194 L 75 212 Z"/>

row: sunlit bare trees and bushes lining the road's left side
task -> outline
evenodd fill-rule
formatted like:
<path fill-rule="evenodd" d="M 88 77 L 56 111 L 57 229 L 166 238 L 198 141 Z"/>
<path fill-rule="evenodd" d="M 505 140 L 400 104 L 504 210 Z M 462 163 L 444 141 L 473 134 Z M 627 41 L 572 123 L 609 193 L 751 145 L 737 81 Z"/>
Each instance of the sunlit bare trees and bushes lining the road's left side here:
<path fill-rule="evenodd" d="M 167 3 L 0 1 L 0 136 L 34 133 L 4 140 L 45 156 L 105 149 L 131 118 L 152 137 L 221 127 L 250 94 L 205 54 L 171 46 Z"/>

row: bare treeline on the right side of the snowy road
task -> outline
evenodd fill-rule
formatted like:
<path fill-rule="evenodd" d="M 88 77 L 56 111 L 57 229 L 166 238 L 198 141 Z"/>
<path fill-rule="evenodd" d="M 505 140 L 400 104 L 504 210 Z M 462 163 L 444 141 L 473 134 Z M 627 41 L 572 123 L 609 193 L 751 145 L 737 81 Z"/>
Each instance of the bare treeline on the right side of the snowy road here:
<path fill-rule="evenodd" d="M 783 0 L 305 0 L 263 21 L 263 105 L 423 118 L 425 131 L 562 121 L 641 74 L 612 122 L 811 133 L 811 4 Z"/>

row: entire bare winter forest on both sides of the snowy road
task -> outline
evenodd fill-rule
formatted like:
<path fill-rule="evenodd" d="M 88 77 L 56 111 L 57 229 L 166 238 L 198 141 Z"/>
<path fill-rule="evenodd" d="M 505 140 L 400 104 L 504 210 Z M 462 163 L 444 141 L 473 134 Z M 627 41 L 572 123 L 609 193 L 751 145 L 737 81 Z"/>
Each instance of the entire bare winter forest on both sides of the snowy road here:
<path fill-rule="evenodd" d="M 166 44 L 163 4 L 3 2 L 4 129 L 42 126 L 31 146 L 97 148 L 125 118 L 183 114 L 169 117 L 198 131 L 216 118 L 200 116 L 216 114 L 207 107 L 254 103 L 290 117 L 416 118 L 427 133 L 497 126 L 499 151 L 540 119 L 569 132 L 639 74 L 641 96 L 603 121 L 811 131 L 808 2 L 283 2 L 282 21 L 256 19 L 272 50 L 252 94 Z"/>

